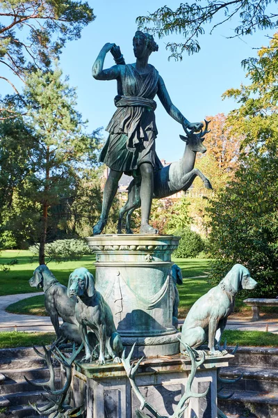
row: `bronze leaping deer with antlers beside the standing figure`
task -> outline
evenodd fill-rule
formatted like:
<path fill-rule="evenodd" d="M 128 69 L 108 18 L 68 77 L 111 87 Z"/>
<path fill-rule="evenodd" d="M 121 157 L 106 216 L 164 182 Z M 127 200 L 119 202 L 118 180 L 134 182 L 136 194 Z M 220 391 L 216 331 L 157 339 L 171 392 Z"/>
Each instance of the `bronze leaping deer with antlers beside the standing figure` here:
<path fill-rule="evenodd" d="M 197 153 L 205 153 L 206 148 L 203 145 L 204 136 L 210 132 L 208 130 L 208 121 L 205 121 L 205 130 L 201 130 L 195 134 L 192 130 L 186 130 L 186 137 L 179 135 L 179 137 L 186 142 L 186 149 L 183 157 L 179 161 L 163 167 L 154 173 L 154 194 L 153 199 L 163 199 L 172 194 L 189 189 L 197 176 L 201 178 L 206 189 L 212 189 L 211 182 L 204 176 L 204 174 L 195 169 L 195 160 Z M 120 209 L 119 220 L 117 224 L 117 233 L 122 233 L 122 219 L 126 215 L 126 233 L 131 231 L 131 214 L 137 208 L 140 208 L 140 177 L 134 178 L 129 185 L 128 199 L 125 205 Z"/>

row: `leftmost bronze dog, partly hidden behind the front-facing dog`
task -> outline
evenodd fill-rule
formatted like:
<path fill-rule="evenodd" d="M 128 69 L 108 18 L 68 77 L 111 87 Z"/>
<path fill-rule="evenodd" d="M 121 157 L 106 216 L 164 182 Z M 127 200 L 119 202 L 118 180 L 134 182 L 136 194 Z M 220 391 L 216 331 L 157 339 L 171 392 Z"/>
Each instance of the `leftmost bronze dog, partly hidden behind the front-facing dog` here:
<path fill-rule="evenodd" d="M 79 334 L 79 323 L 75 316 L 76 298 L 67 296 L 67 288 L 60 284 L 47 265 L 39 265 L 29 280 L 31 287 L 42 288 L 44 291 L 44 306 L 50 316 L 57 337 L 82 342 Z M 63 325 L 59 325 L 59 316 Z"/>

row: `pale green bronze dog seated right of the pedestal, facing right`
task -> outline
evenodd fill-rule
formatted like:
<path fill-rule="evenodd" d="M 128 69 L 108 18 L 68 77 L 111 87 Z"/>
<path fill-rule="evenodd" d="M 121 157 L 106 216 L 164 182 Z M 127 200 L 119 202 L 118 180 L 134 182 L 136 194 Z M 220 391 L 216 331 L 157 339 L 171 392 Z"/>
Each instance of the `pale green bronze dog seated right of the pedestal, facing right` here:
<path fill-rule="evenodd" d="M 227 318 L 234 311 L 236 294 L 241 289 L 252 290 L 256 284 L 247 268 L 235 264 L 218 286 L 213 287 L 193 304 L 183 323 L 181 343 L 198 348 L 208 341 L 209 353 L 220 355 L 220 351 L 215 347 L 220 344 Z"/>

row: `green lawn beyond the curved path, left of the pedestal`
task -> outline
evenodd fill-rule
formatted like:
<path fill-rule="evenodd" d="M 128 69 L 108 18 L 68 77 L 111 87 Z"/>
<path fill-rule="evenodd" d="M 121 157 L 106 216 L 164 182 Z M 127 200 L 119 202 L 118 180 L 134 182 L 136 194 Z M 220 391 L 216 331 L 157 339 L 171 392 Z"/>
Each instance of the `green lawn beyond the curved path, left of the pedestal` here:
<path fill-rule="evenodd" d="M 11 265 L 9 272 L 0 270 L 0 296 L 36 291 L 28 284 L 28 280 L 33 276 L 33 271 L 38 267 L 38 262 L 31 262 L 31 256 L 31 252 L 26 250 L 1 251 L 0 263 L 8 263 L 13 259 L 17 259 L 18 263 Z M 93 263 L 95 263 L 95 254 L 83 256 L 79 261 L 49 263 L 47 266 L 56 279 L 67 286 L 70 273 L 78 267 L 88 268 L 94 274 L 95 265 Z"/>

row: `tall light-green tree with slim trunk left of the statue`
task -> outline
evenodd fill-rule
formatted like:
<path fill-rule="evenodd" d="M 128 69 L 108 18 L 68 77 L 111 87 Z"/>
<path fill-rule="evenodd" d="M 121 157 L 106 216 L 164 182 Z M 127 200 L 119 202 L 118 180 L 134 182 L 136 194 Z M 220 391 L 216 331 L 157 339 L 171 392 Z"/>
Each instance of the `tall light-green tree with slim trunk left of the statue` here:
<path fill-rule="evenodd" d="M 86 134 L 76 111 L 76 93 L 58 68 L 38 70 L 26 78 L 25 123 L 33 131 L 40 152 L 36 160 L 33 202 L 40 203 L 40 264 L 44 263 L 49 208 L 74 198 L 81 171 L 96 162 L 98 137 Z M 93 202 L 92 202 L 93 204 Z"/>

